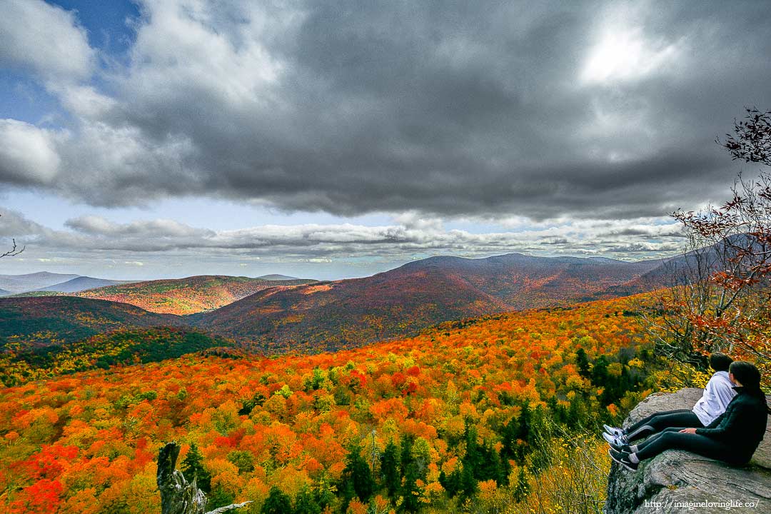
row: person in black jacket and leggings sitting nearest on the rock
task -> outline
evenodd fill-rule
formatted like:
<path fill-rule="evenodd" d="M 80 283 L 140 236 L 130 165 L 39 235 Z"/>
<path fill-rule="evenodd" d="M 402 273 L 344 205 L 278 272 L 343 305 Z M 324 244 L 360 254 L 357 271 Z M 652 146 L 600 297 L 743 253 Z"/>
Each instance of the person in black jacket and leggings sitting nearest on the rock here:
<path fill-rule="evenodd" d="M 687 450 L 730 465 L 745 465 L 763 440 L 768 406 L 760 390 L 760 371 L 749 362 L 735 361 L 729 377 L 736 396 L 726 412 L 704 428 L 666 428 L 638 445 L 611 448 L 611 459 L 632 471 L 640 461 L 668 449 Z"/>

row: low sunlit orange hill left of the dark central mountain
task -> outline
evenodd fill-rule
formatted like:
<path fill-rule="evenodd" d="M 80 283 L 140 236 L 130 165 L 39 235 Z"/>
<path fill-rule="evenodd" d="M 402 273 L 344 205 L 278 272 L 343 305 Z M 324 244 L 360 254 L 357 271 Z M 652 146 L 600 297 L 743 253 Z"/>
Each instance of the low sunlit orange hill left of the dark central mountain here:
<path fill-rule="evenodd" d="M 288 287 L 310 282 L 313 281 L 200 275 L 99 287 L 76 295 L 132 304 L 159 314 L 194 314 L 231 304 L 270 287 Z"/>

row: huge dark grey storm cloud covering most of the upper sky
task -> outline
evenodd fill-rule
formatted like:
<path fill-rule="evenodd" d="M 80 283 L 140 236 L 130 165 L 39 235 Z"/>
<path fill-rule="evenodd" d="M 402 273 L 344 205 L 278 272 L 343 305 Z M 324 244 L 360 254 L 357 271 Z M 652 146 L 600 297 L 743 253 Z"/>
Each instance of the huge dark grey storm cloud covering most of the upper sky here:
<path fill-rule="evenodd" d="M 0 147 L 0 180 L 107 206 L 632 219 L 722 200 L 715 136 L 771 106 L 765 2 L 183 4 L 143 6 L 109 95 L 58 70 L 76 123 L 6 123 L 56 154 L 35 173 Z"/>

